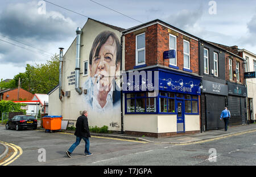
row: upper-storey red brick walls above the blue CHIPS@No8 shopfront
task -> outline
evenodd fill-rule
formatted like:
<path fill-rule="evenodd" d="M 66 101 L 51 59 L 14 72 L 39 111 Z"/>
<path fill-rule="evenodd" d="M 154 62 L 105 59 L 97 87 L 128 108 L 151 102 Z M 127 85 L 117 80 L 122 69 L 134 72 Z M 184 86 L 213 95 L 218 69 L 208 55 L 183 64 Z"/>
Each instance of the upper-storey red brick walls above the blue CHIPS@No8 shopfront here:
<path fill-rule="evenodd" d="M 193 73 L 199 73 L 198 62 L 198 41 L 191 39 L 164 27 L 154 24 L 150 27 L 140 29 L 125 35 L 125 70 L 134 69 L 135 66 L 135 46 L 136 35 L 145 32 L 145 53 L 146 66 L 163 65 L 169 66 L 169 60 L 163 59 L 163 52 L 169 50 L 169 34 L 177 39 L 177 66 L 183 70 L 183 40 L 189 41 L 190 65 Z"/>

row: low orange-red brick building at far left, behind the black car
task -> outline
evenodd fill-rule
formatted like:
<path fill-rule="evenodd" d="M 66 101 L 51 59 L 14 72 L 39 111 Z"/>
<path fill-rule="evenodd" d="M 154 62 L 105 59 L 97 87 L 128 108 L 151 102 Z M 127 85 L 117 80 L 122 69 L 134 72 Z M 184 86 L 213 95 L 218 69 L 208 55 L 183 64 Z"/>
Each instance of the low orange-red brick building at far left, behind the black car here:
<path fill-rule="evenodd" d="M 34 94 L 24 90 L 23 88 L 19 89 L 19 100 L 32 100 Z M 17 101 L 18 99 L 18 88 L 7 88 L 0 91 L 0 100 L 11 100 Z"/>

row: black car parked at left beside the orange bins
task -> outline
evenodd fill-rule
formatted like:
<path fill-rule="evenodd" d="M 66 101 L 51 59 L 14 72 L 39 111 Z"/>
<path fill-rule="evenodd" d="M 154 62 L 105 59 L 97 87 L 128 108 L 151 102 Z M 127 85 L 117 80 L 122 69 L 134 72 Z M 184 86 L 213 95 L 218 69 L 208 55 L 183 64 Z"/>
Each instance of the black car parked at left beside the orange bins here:
<path fill-rule="evenodd" d="M 13 119 L 9 119 L 6 123 L 5 128 L 15 128 L 17 131 L 23 128 L 36 129 L 38 127 L 38 120 L 34 116 L 18 115 L 14 116 Z"/>

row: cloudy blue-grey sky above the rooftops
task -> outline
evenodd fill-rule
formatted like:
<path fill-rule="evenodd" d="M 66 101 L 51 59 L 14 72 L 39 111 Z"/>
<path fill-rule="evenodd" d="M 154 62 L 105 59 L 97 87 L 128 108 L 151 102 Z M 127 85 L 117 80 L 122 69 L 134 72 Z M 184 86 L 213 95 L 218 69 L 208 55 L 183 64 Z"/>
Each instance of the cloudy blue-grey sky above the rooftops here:
<path fill-rule="evenodd" d="M 59 47 L 65 53 L 87 17 L 125 29 L 160 19 L 201 39 L 256 54 L 256 0 L 93 1 L 1 0 L 0 79 L 23 73 L 27 64 L 45 63 Z"/>

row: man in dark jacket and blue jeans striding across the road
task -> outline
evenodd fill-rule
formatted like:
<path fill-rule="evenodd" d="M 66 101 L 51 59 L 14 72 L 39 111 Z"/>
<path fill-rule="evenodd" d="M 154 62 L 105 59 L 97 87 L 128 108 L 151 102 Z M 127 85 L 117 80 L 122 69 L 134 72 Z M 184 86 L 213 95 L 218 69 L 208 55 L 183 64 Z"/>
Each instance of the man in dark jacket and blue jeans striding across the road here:
<path fill-rule="evenodd" d="M 75 150 L 76 146 L 78 146 L 83 139 L 85 141 L 85 155 L 92 155 L 92 153 L 89 152 L 89 137 L 90 137 L 90 132 L 89 132 L 89 126 L 88 126 L 88 112 L 87 111 L 82 111 L 82 115 L 77 118 L 76 121 L 76 142 L 66 151 L 66 154 L 68 157 L 71 157 L 71 154 L 73 150 Z"/>

